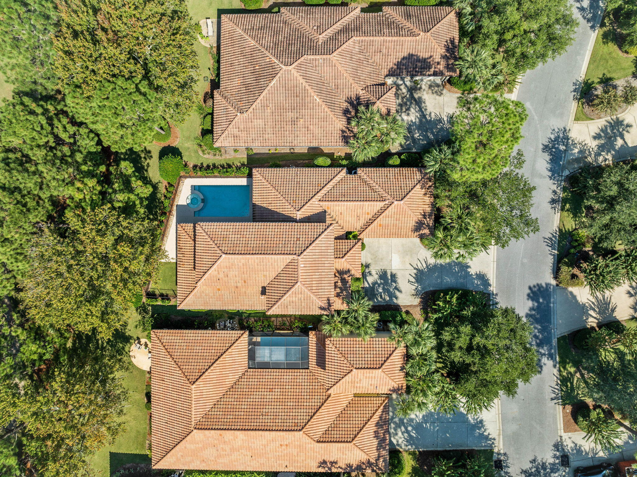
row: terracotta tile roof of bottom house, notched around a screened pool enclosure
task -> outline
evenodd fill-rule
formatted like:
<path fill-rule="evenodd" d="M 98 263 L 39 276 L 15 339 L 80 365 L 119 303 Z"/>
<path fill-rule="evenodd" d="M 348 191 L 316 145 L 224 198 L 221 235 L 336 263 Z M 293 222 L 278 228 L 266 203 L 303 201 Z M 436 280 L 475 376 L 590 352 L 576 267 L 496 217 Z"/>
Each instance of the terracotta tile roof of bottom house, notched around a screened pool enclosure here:
<path fill-rule="evenodd" d="M 381 359 L 366 353 L 381 350 L 384 355 L 394 345 L 361 346 L 355 339 L 338 343 L 310 332 L 310 369 L 248 369 L 247 332 L 152 334 L 154 468 L 386 471 L 387 397 L 334 390 L 343 383 L 341 388 L 357 388 L 361 394 L 387 392 L 384 381 L 394 381 L 383 370 L 390 366 L 393 379 L 404 380 L 394 359 L 404 358 L 404 350 L 394 347 L 381 369 L 358 369 L 339 347 L 352 362 L 368 366 Z M 176 349 L 178 343 L 183 351 Z M 188 356 L 199 367 L 208 365 L 192 382 L 181 369 L 191 369 Z"/>

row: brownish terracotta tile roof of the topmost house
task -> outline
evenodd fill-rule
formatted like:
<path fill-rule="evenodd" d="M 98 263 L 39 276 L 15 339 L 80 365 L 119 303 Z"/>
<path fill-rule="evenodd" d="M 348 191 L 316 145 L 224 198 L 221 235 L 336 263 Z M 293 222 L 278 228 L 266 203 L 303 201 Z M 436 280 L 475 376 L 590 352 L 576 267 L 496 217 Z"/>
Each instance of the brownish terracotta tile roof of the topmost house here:
<path fill-rule="evenodd" d="M 456 75 L 457 43 L 450 7 L 222 15 L 215 145 L 343 146 L 352 99 L 395 110 L 385 76 Z"/>

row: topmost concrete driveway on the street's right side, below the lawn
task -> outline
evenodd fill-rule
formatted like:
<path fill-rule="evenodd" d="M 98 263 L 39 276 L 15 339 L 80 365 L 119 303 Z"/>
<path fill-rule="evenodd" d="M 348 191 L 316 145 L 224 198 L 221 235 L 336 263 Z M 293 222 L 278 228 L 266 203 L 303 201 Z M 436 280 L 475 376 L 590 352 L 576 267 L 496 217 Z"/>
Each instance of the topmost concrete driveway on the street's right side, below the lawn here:
<path fill-rule="evenodd" d="M 637 153 L 637 104 L 619 116 L 575 121 L 569 134 L 566 174 L 583 164 L 599 164 Z"/>

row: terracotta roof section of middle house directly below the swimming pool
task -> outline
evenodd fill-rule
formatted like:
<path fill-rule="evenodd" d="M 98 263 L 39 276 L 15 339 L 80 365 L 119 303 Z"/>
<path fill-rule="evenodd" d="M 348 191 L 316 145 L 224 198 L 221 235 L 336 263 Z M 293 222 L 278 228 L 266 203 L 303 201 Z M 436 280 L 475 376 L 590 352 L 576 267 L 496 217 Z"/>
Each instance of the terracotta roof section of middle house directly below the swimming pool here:
<path fill-rule="evenodd" d="M 335 301 L 332 226 L 178 224 L 177 283 L 180 308 L 327 313 Z"/>

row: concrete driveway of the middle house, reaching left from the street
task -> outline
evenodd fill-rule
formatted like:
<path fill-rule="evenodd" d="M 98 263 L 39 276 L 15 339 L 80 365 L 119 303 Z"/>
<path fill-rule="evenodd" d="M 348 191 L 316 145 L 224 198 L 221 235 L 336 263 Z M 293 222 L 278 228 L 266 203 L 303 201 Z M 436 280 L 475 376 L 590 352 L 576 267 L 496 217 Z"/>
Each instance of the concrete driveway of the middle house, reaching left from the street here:
<path fill-rule="evenodd" d="M 428 290 L 471 288 L 490 292 L 492 255 L 469 264 L 440 263 L 419 239 L 365 239 L 363 283 L 376 304 L 418 304 Z"/>

